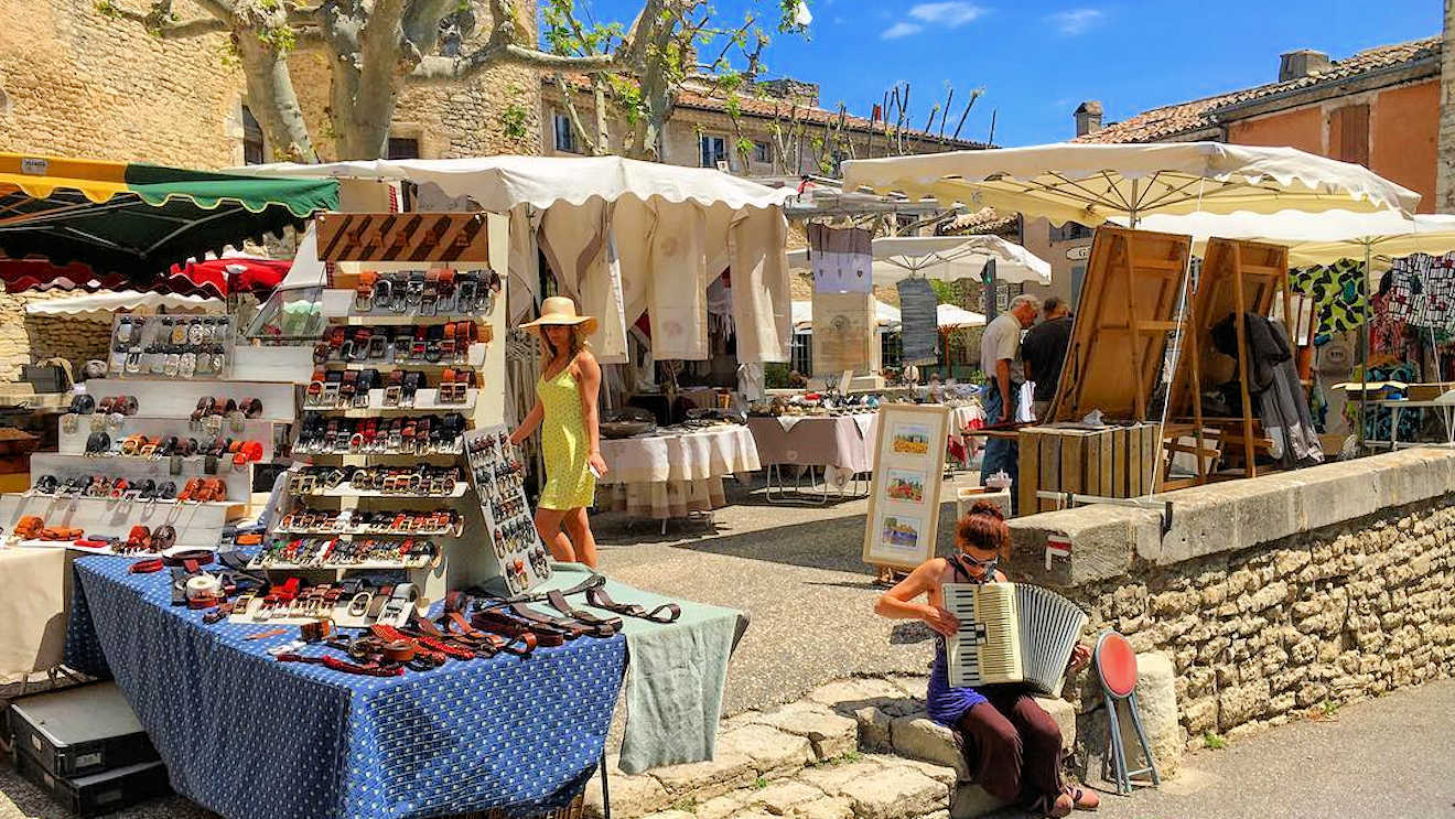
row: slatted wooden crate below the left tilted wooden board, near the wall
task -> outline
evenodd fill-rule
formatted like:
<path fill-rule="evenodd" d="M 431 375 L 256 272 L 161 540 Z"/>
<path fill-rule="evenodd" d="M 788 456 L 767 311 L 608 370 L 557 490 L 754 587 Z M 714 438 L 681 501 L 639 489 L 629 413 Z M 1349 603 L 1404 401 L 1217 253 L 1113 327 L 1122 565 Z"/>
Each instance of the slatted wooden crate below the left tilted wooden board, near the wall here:
<path fill-rule="evenodd" d="M 1101 498 L 1138 498 L 1155 492 L 1151 470 L 1161 438 L 1158 425 L 1107 429 L 1027 426 L 1020 431 L 1017 502 L 1021 515 L 1056 509 L 1037 492 L 1074 492 Z"/>

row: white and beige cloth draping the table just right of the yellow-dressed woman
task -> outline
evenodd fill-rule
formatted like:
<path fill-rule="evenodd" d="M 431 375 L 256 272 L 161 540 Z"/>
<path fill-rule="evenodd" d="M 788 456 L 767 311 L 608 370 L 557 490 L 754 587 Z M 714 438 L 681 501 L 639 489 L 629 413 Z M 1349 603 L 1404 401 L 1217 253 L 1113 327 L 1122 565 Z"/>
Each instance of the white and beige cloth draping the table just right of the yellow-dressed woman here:
<path fill-rule="evenodd" d="M 746 426 L 665 431 L 601 441 L 607 474 L 597 506 L 645 518 L 682 518 L 728 503 L 723 477 L 762 468 Z"/>

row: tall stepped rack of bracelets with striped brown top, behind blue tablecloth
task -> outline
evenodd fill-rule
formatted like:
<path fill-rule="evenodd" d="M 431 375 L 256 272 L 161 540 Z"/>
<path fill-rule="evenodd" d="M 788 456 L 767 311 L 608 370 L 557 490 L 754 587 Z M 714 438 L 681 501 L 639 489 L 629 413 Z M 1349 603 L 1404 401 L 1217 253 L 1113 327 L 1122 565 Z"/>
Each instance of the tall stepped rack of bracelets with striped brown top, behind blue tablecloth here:
<path fill-rule="evenodd" d="M 499 527 L 471 487 L 466 458 L 483 396 L 501 383 L 486 367 L 505 311 L 490 252 L 503 246 L 492 247 L 487 221 L 485 214 L 319 218 L 320 256 L 335 262 L 320 297 L 326 329 L 313 377 L 292 374 L 307 385 L 294 442 L 300 464 L 252 567 L 306 583 L 368 572 L 375 588 L 412 588 L 418 599 L 410 604 L 506 578 L 514 560 L 490 546 Z M 435 230 L 412 231 L 415 223 Z M 451 233 L 451 225 L 467 230 Z M 527 560 L 525 575 L 506 591 L 537 582 L 533 572 Z M 346 604 L 335 607 L 338 624 L 378 621 L 372 611 L 348 612 Z"/>

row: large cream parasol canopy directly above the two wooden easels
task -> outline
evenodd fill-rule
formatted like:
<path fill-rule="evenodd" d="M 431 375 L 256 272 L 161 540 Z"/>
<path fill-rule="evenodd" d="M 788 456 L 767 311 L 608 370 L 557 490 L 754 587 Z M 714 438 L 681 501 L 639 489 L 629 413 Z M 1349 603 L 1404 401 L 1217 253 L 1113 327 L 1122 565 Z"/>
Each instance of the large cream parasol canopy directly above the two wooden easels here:
<path fill-rule="evenodd" d="M 994 207 L 1096 227 L 1151 214 L 1397 211 L 1420 195 L 1369 169 L 1295 148 L 1224 143 L 1081 144 L 851 160 L 844 189 Z"/>

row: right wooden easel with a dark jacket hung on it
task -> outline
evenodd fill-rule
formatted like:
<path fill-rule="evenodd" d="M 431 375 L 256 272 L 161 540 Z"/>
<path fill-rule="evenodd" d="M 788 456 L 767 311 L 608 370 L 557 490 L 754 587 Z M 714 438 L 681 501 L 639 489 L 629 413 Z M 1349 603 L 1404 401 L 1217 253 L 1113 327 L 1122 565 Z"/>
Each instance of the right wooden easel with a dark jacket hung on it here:
<path fill-rule="evenodd" d="M 1241 319 L 1245 313 L 1267 316 L 1273 300 L 1283 294 L 1283 316 L 1292 316 L 1293 297 L 1288 278 L 1288 249 L 1257 241 L 1234 241 L 1209 239 L 1202 263 L 1202 275 L 1187 298 L 1186 333 L 1183 352 L 1177 358 L 1167 400 L 1170 401 L 1168 423 L 1163 429 L 1163 463 L 1160 476 L 1168 474 L 1171 460 L 1179 452 L 1190 452 L 1197 458 L 1196 476 L 1179 480 L 1161 480 L 1161 489 L 1180 489 L 1213 480 L 1212 473 L 1219 457 L 1221 444 L 1241 445 L 1241 473 L 1222 477 L 1256 477 L 1257 454 L 1272 444 L 1261 434 L 1261 423 L 1253 418 L 1253 400 L 1248 394 L 1248 345 L 1247 329 Z M 1238 387 L 1243 399 L 1243 413 L 1234 418 L 1209 418 L 1202 404 L 1202 356 L 1211 351 L 1211 332 L 1229 313 L 1237 314 Z M 1291 330 L 1292 333 L 1292 330 Z M 1293 343 L 1291 337 L 1289 343 Z M 1189 418 L 1190 413 L 1190 418 Z M 1216 442 L 1208 441 L 1208 431 L 1218 432 Z M 1180 439 L 1193 435 L 1196 447 L 1189 448 Z"/>

